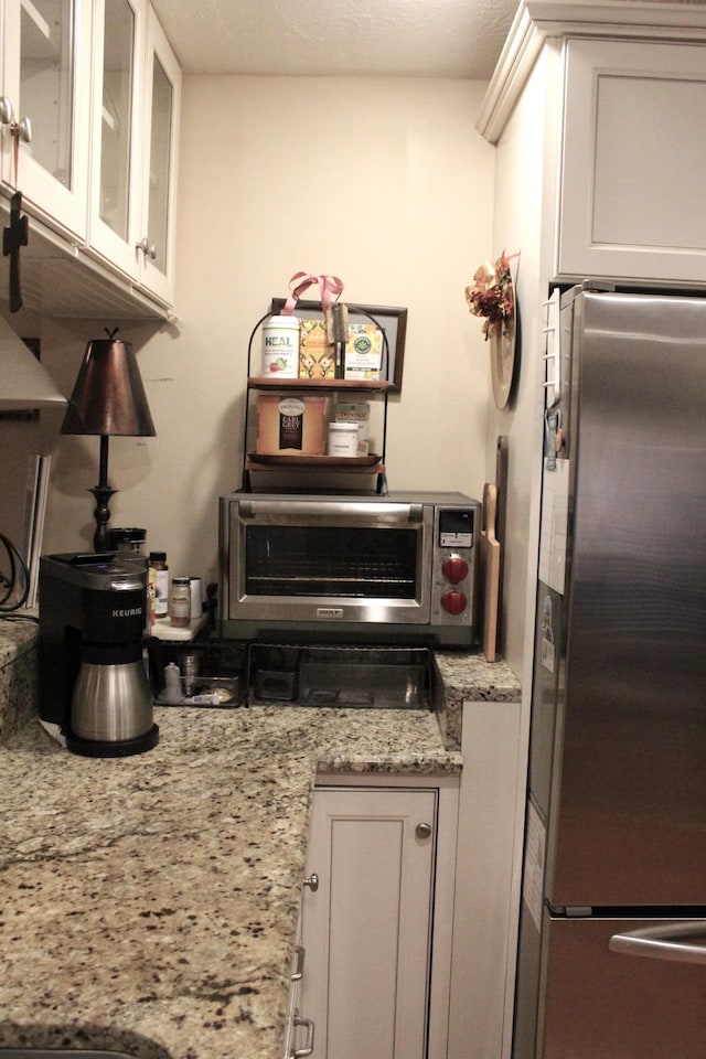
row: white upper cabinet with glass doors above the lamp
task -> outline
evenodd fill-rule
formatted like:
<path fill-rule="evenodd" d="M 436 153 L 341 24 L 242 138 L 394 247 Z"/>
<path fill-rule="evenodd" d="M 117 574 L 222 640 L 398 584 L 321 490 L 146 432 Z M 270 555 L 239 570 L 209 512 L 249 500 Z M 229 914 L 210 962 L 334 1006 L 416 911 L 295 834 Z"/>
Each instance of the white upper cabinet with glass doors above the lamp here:
<path fill-rule="evenodd" d="M 28 308 L 174 303 L 181 71 L 149 0 L 0 0 L 0 217 L 22 192 Z"/>

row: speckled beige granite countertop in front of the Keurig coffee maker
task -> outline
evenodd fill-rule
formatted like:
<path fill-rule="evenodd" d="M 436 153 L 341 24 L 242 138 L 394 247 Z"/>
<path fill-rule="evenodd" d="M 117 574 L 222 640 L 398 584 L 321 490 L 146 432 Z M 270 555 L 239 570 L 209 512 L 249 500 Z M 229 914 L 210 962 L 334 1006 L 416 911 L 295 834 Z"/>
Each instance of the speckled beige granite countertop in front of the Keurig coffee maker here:
<path fill-rule="evenodd" d="M 439 668 L 451 728 L 457 698 L 500 697 L 482 659 Z M 0 747 L 0 1046 L 280 1059 L 317 769 L 448 774 L 461 756 L 424 710 L 154 719 L 132 758 L 75 757 L 36 718 Z"/>

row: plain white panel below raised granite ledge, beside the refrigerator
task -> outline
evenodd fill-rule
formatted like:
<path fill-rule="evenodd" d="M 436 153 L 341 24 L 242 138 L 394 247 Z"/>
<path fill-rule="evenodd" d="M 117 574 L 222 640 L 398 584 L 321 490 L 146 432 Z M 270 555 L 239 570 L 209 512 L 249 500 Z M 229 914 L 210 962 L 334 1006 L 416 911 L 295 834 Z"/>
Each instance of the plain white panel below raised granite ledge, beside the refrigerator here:
<path fill-rule="evenodd" d="M 521 703 L 463 704 L 449 1059 L 510 1059 L 524 738 Z"/>

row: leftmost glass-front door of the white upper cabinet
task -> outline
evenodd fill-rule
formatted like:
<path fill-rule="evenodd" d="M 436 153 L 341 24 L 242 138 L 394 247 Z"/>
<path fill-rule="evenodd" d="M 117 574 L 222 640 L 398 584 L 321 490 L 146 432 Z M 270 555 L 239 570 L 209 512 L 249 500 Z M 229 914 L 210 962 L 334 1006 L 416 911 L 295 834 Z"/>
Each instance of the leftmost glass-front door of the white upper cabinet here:
<path fill-rule="evenodd" d="M 4 0 L 2 181 L 28 211 L 86 236 L 89 0 Z"/>

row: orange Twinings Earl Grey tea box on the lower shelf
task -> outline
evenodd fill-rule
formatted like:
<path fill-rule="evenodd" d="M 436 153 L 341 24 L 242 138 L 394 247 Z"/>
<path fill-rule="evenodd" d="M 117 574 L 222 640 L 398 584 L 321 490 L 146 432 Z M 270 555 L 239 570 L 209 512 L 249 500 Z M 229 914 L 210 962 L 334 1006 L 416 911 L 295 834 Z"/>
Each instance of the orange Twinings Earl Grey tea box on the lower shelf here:
<path fill-rule="evenodd" d="M 257 451 L 263 456 L 323 456 L 325 397 L 259 394 Z"/>

